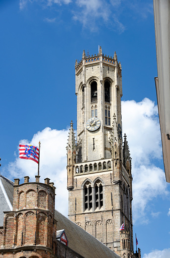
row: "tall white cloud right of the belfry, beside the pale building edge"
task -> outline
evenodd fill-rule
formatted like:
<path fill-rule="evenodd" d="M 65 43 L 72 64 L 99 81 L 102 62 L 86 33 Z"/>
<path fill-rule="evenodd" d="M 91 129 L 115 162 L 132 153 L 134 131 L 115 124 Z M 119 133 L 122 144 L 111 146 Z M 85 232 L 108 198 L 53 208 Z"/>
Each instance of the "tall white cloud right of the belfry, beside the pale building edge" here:
<path fill-rule="evenodd" d="M 147 223 L 149 201 L 168 193 L 164 172 L 154 165 L 162 159 L 157 115 L 157 106 L 148 98 L 141 102 L 122 101 L 123 131 L 132 158 L 133 222 L 140 219 L 141 223 Z"/>

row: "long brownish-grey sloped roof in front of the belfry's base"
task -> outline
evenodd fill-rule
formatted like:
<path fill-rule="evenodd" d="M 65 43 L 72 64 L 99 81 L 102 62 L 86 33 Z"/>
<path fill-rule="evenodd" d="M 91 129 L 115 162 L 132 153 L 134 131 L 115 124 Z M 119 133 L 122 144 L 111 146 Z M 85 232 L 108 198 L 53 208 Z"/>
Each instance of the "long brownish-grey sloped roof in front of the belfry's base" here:
<path fill-rule="evenodd" d="M 68 247 L 84 258 L 120 258 L 115 252 L 101 243 L 95 237 L 55 210 L 57 230 L 64 229 L 68 238 Z"/>

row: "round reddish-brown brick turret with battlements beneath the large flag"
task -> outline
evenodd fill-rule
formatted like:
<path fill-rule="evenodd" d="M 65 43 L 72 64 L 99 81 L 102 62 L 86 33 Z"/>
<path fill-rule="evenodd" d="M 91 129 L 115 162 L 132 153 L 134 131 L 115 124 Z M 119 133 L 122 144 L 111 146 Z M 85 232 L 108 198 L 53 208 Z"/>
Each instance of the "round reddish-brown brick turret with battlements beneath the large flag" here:
<path fill-rule="evenodd" d="M 24 183 L 15 179 L 13 211 L 5 212 L 4 234 L 1 239 L 0 257 L 47 257 L 55 253 L 56 220 L 55 187 L 49 178 L 45 183 Z"/>

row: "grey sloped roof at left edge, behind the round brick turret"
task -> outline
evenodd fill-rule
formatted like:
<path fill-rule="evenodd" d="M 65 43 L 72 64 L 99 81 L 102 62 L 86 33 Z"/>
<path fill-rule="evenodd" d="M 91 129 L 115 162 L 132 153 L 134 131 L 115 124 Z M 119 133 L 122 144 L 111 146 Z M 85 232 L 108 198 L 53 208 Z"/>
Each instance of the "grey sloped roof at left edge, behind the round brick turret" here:
<path fill-rule="evenodd" d="M 4 212 L 12 211 L 13 205 L 13 194 L 14 194 L 14 183 L 8 178 L 0 175 L 0 227 L 4 224 Z"/>

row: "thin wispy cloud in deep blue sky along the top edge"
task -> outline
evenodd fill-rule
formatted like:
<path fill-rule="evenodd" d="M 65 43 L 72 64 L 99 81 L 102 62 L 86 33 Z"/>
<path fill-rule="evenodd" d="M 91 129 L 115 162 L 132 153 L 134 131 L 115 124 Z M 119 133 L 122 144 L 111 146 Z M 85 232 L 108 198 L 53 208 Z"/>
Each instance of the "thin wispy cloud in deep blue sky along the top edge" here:
<path fill-rule="evenodd" d="M 136 19 L 139 17 L 147 18 L 148 14 L 153 13 L 153 5 L 148 3 L 141 4 L 135 0 L 20 0 L 20 10 L 23 10 L 27 3 L 38 3 L 44 7 L 58 8 L 62 5 L 68 5 L 69 11 L 73 15 L 73 20 L 82 24 L 83 28 L 88 28 L 91 31 L 97 31 L 100 26 L 109 26 L 111 30 L 117 30 L 122 33 L 125 30 L 125 25 L 122 22 L 122 17 L 127 16 L 131 12 L 131 17 Z M 58 10 L 57 10 L 58 11 Z"/>

